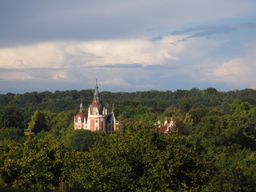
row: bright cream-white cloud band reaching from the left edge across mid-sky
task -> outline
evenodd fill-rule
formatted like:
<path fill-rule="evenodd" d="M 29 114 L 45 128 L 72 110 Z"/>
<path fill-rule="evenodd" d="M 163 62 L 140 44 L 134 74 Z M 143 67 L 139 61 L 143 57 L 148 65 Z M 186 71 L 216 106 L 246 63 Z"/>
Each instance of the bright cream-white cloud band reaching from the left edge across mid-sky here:
<path fill-rule="evenodd" d="M 175 39 L 177 37 L 165 37 L 157 42 L 135 38 L 89 42 L 42 42 L 14 46 L 0 49 L 0 67 L 54 69 L 84 66 L 134 68 L 160 65 L 166 60 L 179 60 L 176 55 L 177 47 L 174 49 L 169 44 Z"/>

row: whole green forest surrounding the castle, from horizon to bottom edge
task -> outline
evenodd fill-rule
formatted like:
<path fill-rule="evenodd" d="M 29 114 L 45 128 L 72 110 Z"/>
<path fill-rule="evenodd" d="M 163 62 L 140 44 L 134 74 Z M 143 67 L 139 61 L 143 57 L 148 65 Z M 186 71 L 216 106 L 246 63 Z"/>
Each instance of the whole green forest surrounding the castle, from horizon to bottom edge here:
<path fill-rule="evenodd" d="M 0 94 L 0 191 L 256 190 L 256 90 L 102 91 L 120 128 L 74 130 L 93 96 Z"/>

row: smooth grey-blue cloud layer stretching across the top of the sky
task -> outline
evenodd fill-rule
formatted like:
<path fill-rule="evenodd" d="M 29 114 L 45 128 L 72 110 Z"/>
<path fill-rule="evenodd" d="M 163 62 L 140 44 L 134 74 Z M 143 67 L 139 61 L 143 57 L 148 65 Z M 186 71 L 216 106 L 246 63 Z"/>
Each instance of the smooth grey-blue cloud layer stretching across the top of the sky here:
<path fill-rule="evenodd" d="M 255 7 L 254 1 L 239 0 L 10 0 L 0 6 L 0 45 L 149 38 L 156 30 L 246 16 Z"/>

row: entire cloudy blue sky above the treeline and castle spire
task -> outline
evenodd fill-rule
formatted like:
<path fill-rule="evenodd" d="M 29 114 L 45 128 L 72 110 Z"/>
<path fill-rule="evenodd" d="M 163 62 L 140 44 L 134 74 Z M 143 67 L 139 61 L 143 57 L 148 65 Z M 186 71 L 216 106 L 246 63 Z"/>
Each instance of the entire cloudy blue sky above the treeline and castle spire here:
<path fill-rule="evenodd" d="M 255 0 L 1 0 L 0 94 L 256 89 Z"/>

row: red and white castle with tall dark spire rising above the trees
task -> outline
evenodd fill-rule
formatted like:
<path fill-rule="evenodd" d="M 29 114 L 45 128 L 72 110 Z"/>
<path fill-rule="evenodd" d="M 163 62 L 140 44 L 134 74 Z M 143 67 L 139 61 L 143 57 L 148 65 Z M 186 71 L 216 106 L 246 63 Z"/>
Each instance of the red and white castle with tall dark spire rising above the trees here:
<path fill-rule="evenodd" d="M 94 90 L 94 100 L 90 104 L 88 114 L 82 110 L 82 100 L 80 104 L 80 112 L 74 117 L 74 130 L 103 130 L 106 134 L 110 134 L 118 129 L 118 119 L 114 116 L 114 111 L 108 113 L 106 107 L 99 100 L 98 83 L 96 80 Z"/>

